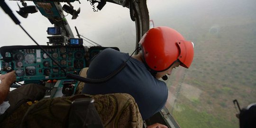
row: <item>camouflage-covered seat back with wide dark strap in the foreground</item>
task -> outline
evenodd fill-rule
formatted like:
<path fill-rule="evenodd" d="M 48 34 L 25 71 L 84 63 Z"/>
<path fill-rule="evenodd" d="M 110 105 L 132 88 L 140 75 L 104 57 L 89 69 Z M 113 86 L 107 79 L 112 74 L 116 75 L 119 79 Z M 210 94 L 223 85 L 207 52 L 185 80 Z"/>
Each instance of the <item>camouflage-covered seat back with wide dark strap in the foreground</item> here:
<path fill-rule="evenodd" d="M 87 70 L 84 68 L 80 75 L 85 77 Z M 142 117 L 131 95 L 80 94 L 83 85 L 80 82 L 78 86 L 81 88 L 70 97 L 42 99 L 30 107 L 26 103 L 22 104 L 5 119 L 6 127 L 3 128 L 9 128 L 12 120 L 16 120 L 11 125 L 15 128 L 18 125 L 21 128 L 142 128 Z M 21 111 L 26 114 L 20 115 Z"/>

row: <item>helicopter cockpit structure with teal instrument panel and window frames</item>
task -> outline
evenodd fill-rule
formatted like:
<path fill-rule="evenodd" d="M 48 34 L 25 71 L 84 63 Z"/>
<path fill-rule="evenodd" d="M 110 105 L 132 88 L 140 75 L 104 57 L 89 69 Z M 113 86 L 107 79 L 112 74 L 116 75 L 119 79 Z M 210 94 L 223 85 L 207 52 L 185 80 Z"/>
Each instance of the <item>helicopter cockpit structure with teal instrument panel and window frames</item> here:
<path fill-rule="evenodd" d="M 17 12 L 23 18 L 27 18 L 28 13 L 35 13 L 38 9 L 51 24 L 54 24 L 54 27 L 48 27 L 46 31 L 50 35 L 47 37 L 47 45 L 38 45 L 32 38 L 37 45 L 0 47 L 1 74 L 14 70 L 17 74 L 16 82 L 24 82 L 24 84 L 45 83 L 47 87 L 50 87 L 50 90 L 46 91 L 45 98 L 73 95 L 78 86 L 78 81 L 75 78 L 79 75 L 80 71 L 89 66 L 91 59 L 95 55 L 108 47 L 102 47 L 97 43 L 97 46 L 83 46 L 84 39 L 76 27 L 78 38 L 73 36 L 71 28 L 64 16 L 64 11 L 71 14 L 72 19 L 76 19 L 80 13 L 80 8 L 75 10 L 72 6 L 71 3 L 75 0 L 32 1 L 36 6 L 27 6 L 25 0 L 21 0 L 20 2 L 23 7 L 18 5 L 20 10 Z M 68 5 L 64 4 L 64 6 L 61 6 L 60 2 L 66 2 Z M 149 29 L 146 0 L 140 2 L 132 0 L 91 0 L 90 2 L 93 11 L 96 11 L 96 8 L 101 10 L 106 2 L 112 2 L 128 8 L 130 18 L 136 24 L 137 34 L 135 46 L 137 47 L 140 37 Z M 98 3 L 97 7 L 94 7 L 95 3 Z M 11 15 L 11 11 L 6 9 L 8 6 L 4 2 L 1 3 L 1 7 L 16 24 L 20 23 L 17 18 Z M 119 51 L 118 47 L 110 48 Z M 135 52 L 138 52 L 137 49 Z M 71 74 L 71 77 L 67 77 L 67 74 Z M 65 86 L 67 84 L 72 86 Z M 12 87 L 17 88 L 19 86 L 12 84 Z M 159 122 L 178 128 L 177 123 L 167 111 L 165 109 L 159 112 L 159 114 L 156 114 L 155 117 L 152 117 L 151 120 L 146 120 L 145 125 Z M 169 117 L 169 122 L 170 119 L 173 119 L 171 120 L 171 124 L 166 121 L 166 118 L 163 118 L 163 115 Z"/>

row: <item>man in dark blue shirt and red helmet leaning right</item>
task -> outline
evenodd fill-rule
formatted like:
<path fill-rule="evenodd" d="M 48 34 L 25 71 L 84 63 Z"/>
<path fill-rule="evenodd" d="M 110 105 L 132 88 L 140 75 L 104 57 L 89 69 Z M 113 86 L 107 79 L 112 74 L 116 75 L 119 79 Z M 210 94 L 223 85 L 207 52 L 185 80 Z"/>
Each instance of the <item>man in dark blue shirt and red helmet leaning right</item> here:
<path fill-rule="evenodd" d="M 130 57 L 113 49 L 105 49 L 94 57 L 87 78 L 101 79 L 126 63 L 115 77 L 100 84 L 86 83 L 82 93 L 96 95 L 128 93 L 137 102 L 142 119 L 160 111 L 166 103 L 168 89 L 160 81 L 179 65 L 189 68 L 193 59 L 193 43 L 170 27 L 155 27 L 146 32 L 139 42 L 140 53 Z"/>

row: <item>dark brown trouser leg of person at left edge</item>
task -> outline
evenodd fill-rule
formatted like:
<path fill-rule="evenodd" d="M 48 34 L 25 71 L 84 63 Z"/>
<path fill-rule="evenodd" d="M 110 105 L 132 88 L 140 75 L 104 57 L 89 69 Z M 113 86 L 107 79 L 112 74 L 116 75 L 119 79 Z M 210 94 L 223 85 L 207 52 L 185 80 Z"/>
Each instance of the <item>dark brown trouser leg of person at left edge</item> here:
<path fill-rule="evenodd" d="M 42 85 L 31 83 L 10 91 L 5 100 L 9 101 L 10 107 L 0 115 L 1 128 L 16 128 L 29 108 L 27 101 L 41 100 L 46 89 Z"/>

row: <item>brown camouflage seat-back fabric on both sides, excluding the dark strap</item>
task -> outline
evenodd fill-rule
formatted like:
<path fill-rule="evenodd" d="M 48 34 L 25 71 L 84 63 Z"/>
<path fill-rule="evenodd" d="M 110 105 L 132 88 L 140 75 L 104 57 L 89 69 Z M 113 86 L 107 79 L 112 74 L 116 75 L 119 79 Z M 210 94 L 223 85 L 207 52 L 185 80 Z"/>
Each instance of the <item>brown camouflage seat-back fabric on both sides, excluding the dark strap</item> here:
<path fill-rule="evenodd" d="M 43 99 L 31 107 L 23 104 L 5 119 L 1 126 L 17 128 L 23 118 L 21 128 L 67 128 L 71 102 L 80 98 L 95 100 L 94 106 L 104 128 L 142 128 L 142 118 L 135 100 L 129 94 L 124 93 L 95 96 L 79 94 L 71 97 Z"/>

